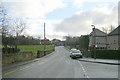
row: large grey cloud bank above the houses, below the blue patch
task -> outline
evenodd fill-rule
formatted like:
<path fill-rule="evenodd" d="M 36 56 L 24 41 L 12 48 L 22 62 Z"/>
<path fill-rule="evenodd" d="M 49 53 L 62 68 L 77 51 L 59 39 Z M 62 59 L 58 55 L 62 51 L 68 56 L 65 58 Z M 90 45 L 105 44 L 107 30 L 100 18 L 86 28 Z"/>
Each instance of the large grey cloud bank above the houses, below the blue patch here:
<path fill-rule="evenodd" d="M 80 36 L 91 32 L 91 25 L 94 24 L 97 28 L 109 27 L 113 25 L 117 27 L 117 6 L 110 9 L 107 6 L 100 6 L 63 20 L 56 26 L 59 32 L 66 32 L 72 36 Z"/>

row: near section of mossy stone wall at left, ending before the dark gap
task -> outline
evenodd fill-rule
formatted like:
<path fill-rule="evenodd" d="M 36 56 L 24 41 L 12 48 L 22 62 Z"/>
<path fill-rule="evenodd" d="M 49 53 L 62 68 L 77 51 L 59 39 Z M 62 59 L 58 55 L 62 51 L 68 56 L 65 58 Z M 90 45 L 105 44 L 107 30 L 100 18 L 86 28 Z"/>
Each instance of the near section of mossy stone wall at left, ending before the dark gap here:
<path fill-rule="evenodd" d="M 34 58 L 35 58 L 35 56 L 32 52 L 2 54 L 2 66 L 12 64 L 12 63 L 15 63 L 15 62 L 32 60 Z"/>

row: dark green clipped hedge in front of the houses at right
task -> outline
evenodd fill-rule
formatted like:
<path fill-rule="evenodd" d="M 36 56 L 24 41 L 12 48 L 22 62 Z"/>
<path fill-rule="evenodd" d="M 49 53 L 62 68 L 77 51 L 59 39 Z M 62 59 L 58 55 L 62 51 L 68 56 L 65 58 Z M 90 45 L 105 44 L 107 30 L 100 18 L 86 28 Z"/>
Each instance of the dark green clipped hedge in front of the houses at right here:
<path fill-rule="evenodd" d="M 91 51 L 91 57 L 94 58 L 93 50 Z M 96 50 L 96 58 L 120 60 L 120 50 Z"/>

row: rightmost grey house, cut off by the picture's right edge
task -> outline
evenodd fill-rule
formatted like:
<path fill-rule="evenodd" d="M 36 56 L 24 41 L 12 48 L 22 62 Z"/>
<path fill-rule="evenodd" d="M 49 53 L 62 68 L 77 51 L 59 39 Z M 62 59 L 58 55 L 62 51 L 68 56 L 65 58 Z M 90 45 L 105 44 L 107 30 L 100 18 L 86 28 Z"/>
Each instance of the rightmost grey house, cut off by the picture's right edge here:
<path fill-rule="evenodd" d="M 107 49 L 120 50 L 120 25 L 107 35 Z"/>

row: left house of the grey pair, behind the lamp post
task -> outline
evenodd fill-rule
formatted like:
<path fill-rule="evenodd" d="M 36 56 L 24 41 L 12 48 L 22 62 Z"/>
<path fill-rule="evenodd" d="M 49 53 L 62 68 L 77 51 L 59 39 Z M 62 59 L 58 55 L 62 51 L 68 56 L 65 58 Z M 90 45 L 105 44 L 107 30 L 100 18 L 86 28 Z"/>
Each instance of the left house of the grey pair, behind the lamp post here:
<path fill-rule="evenodd" d="M 106 49 L 107 37 L 106 33 L 97 28 L 93 28 L 93 31 L 89 35 L 89 47 L 97 49 Z"/>

